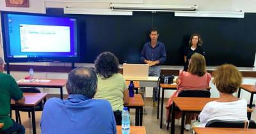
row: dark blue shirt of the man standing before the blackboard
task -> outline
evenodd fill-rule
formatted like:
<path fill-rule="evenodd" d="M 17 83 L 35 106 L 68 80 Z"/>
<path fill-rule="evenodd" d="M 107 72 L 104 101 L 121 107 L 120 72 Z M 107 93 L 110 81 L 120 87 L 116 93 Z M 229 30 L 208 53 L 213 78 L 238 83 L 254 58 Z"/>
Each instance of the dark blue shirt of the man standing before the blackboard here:
<path fill-rule="evenodd" d="M 141 50 L 141 63 L 144 63 L 144 60 L 149 60 L 149 61 L 159 61 L 160 64 L 163 64 L 164 61 L 166 60 L 166 52 L 165 52 L 165 47 L 164 44 L 161 43 L 160 41 L 157 41 L 156 47 L 152 48 L 150 41 L 145 43 Z"/>

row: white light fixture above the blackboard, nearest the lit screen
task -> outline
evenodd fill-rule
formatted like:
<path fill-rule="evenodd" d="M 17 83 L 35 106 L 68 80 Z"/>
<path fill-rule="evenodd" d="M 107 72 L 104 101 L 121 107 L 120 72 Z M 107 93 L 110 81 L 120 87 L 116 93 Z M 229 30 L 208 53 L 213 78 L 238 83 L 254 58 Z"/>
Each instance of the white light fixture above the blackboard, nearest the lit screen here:
<path fill-rule="evenodd" d="M 95 8 L 64 8 L 65 14 L 86 14 L 86 15 L 132 15 L 132 11 L 113 11 L 111 9 Z"/>

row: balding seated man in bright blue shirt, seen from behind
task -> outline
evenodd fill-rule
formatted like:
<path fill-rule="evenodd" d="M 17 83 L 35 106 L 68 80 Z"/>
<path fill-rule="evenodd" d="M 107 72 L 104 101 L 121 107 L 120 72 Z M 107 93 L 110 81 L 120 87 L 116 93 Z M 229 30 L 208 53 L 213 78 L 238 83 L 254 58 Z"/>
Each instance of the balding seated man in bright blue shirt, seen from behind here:
<path fill-rule="evenodd" d="M 76 68 L 68 74 L 68 99 L 46 101 L 41 131 L 54 133 L 115 134 L 116 123 L 110 103 L 92 99 L 97 91 L 97 75 L 90 68 Z"/>

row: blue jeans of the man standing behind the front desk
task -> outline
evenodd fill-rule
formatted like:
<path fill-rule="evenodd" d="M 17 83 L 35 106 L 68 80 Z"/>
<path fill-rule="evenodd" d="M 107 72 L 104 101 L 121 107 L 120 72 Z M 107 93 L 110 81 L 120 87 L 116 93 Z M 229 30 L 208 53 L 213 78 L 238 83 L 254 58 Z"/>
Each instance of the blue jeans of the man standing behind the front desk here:
<path fill-rule="evenodd" d="M 159 77 L 161 72 L 161 67 L 160 66 L 150 66 L 148 70 L 148 76 L 150 77 Z M 158 89 L 157 87 L 153 88 L 153 102 L 158 101 Z"/>

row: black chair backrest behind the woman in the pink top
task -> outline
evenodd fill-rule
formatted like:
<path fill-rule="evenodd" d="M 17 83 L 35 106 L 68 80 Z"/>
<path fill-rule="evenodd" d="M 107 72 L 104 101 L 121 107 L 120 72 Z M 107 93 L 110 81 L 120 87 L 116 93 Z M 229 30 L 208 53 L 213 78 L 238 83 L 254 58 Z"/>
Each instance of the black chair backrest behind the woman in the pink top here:
<path fill-rule="evenodd" d="M 209 90 L 182 90 L 178 94 L 178 97 L 200 97 L 200 98 L 209 98 L 211 92 Z"/>

